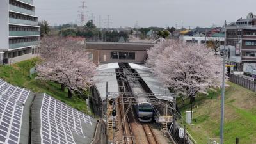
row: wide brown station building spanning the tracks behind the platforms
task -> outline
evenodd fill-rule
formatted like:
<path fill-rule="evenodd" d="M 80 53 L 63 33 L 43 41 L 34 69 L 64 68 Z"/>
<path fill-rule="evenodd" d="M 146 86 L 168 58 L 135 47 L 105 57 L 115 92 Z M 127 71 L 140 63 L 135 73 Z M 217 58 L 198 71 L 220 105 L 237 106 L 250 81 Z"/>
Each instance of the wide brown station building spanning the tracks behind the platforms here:
<path fill-rule="evenodd" d="M 86 42 L 86 51 L 96 65 L 102 63 L 144 63 L 154 43 Z"/>

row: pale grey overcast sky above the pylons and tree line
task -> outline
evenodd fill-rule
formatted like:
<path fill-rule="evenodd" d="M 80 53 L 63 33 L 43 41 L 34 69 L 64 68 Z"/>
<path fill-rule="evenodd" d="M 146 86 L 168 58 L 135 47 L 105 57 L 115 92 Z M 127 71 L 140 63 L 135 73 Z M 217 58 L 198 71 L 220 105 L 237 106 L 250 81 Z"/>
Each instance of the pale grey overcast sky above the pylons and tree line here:
<path fill-rule="evenodd" d="M 83 0 L 33 0 L 36 16 L 47 20 L 52 26 L 76 23 L 79 6 Z M 106 26 L 110 15 L 112 27 L 176 26 L 222 26 L 225 20 L 232 22 L 256 14 L 255 0 L 86 0 L 88 18 L 92 13 L 98 26 Z"/>

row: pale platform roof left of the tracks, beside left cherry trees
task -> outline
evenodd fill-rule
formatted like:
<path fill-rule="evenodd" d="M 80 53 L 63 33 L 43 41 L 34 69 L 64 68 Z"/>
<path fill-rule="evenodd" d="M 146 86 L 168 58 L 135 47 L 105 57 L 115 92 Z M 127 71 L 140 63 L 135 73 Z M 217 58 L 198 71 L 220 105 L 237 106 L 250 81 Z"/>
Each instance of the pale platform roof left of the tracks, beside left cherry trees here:
<path fill-rule="evenodd" d="M 108 82 L 108 92 L 119 92 L 115 74 L 118 68 L 118 63 L 103 64 L 96 68 L 97 74 L 93 77 L 93 81 L 102 100 L 106 100 L 106 82 Z"/>

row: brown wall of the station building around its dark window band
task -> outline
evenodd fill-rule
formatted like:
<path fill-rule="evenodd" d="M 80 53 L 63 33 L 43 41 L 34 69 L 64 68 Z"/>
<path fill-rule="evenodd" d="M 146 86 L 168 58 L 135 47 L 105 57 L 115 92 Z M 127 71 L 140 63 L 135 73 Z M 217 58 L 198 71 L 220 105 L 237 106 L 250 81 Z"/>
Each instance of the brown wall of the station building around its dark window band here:
<path fill-rule="evenodd" d="M 129 63 L 144 63 L 147 59 L 147 51 L 124 51 L 124 50 L 98 50 L 90 49 L 86 50 L 87 52 L 92 53 L 93 63 L 114 63 L 114 62 L 129 62 Z M 111 52 L 135 52 L 134 60 L 119 60 L 111 59 Z M 105 60 L 104 60 L 105 57 Z"/>

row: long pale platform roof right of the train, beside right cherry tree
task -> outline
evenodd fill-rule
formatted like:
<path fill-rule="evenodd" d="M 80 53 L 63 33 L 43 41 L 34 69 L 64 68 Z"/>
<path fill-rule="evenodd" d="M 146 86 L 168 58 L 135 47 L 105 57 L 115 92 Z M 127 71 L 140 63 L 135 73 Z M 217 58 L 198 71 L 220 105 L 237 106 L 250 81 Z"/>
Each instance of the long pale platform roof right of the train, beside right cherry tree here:
<path fill-rule="evenodd" d="M 150 68 L 134 63 L 129 63 L 129 66 L 138 72 L 157 99 L 173 101 L 174 94 L 170 93 L 170 90 L 168 90 L 168 88 L 166 88 L 166 86 L 164 86 L 164 84 L 152 74 L 152 70 Z"/>

